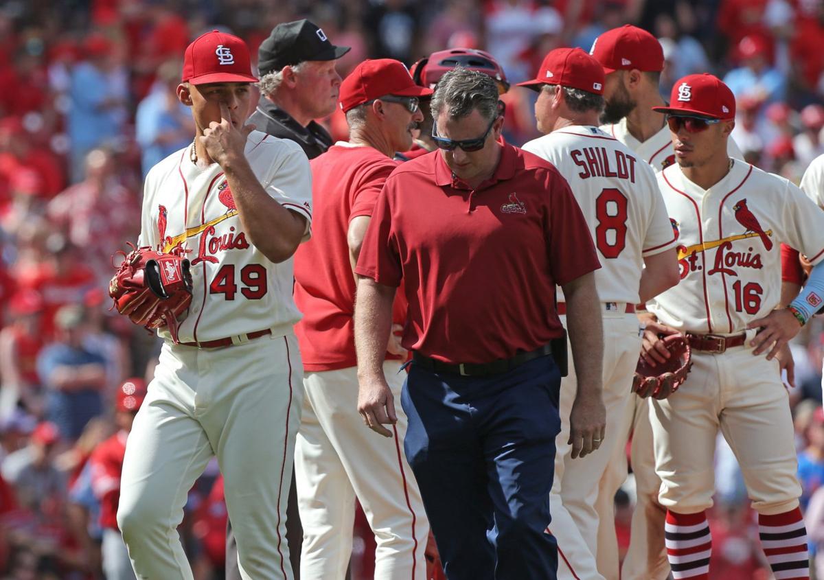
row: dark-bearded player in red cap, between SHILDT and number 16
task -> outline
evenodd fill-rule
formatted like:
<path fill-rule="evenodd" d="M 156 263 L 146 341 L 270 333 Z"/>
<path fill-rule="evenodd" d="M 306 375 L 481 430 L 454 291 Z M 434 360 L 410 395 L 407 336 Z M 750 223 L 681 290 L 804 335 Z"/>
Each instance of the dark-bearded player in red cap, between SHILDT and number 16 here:
<path fill-rule="evenodd" d="M 606 73 L 601 116 L 606 133 L 624 143 L 635 155 L 658 172 L 675 162 L 670 132 L 664 115 L 652 110 L 664 105 L 658 81 L 664 67 L 661 44 L 637 26 L 620 26 L 598 36 L 590 51 Z M 728 139 L 728 155 L 743 159 L 733 139 Z M 632 516 L 630 548 L 620 567 L 622 580 L 664 580 L 669 564 L 664 548 L 665 510 L 658 505 L 661 480 L 655 475 L 652 430 L 649 427 L 648 400 L 630 399 L 616 437 L 626 442 L 632 436 L 631 460 L 635 476 L 637 504 Z M 612 518 L 615 493 L 627 474 L 625 445 L 613 447 L 615 454 L 604 475 L 604 493 L 599 496 L 597 512 L 605 514 L 598 526 L 598 570 L 606 580 L 618 580 L 618 541 Z"/>

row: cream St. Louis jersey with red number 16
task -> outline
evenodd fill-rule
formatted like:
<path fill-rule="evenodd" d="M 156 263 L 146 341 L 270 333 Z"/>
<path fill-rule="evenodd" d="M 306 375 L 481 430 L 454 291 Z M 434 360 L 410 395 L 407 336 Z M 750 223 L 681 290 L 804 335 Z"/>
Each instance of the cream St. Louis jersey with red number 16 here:
<path fill-rule="evenodd" d="M 700 334 L 742 332 L 779 303 L 782 242 L 813 264 L 824 258 L 824 213 L 778 175 L 734 161 L 705 190 L 673 165 L 658 184 L 678 231 L 681 272 L 676 287 L 647 305 L 664 324 Z"/>

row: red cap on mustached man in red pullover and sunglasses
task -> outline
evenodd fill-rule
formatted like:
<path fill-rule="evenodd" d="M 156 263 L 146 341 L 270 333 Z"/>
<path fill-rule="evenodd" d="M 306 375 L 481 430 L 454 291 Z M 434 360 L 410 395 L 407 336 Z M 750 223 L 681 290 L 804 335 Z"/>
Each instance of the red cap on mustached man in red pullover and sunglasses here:
<path fill-rule="evenodd" d="M 432 89 L 414 83 L 400 60 L 368 58 L 340 83 L 340 108 L 345 113 L 380 96 L 429 96 L 432 93 Z"/>

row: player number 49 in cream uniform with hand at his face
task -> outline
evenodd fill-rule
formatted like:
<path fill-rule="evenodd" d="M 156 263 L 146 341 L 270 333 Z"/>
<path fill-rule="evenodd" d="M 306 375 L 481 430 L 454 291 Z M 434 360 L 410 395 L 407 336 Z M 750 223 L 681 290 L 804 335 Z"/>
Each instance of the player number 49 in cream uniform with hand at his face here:
<path fill-rule="evenodd" d="M 166 339 L 134 420 L 118 524 L 138 578 L 192 578 L 176 526 L 217 456 L 242 578 L 292 578 L 283 539 L 300 421 L 291 256 L 309 235 L 311 173 L 296 143 L 244 126 L 246 44 L 217 30 L 186 49 L 178 98 L 194 143 L 146 178 L 140 246 L 185 256 L 188 316 Z"/>

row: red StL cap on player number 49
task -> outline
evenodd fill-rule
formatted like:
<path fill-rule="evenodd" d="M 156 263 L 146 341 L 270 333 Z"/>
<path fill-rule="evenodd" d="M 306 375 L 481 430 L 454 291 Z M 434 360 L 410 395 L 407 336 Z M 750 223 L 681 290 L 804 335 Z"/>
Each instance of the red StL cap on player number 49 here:
<path fill-rule="evenodd" d="M 249 47 L 243 40 L 212 30 L 198 36 L 183 56 L 183 82 L 257 82 L 251 75 Z"/>

